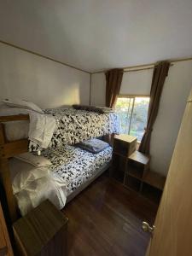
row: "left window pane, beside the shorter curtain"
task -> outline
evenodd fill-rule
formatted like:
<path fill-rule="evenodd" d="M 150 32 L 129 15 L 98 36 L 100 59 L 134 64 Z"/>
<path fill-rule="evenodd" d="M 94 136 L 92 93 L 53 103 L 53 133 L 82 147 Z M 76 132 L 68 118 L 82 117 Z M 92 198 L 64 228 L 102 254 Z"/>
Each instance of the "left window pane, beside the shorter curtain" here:
<path fill-rule="evenodd" d="M 115 109 L 119 114 L 121 133 L 123 134 L 129 134 L 132 107 L 133 98 L 118 98 Z"/>

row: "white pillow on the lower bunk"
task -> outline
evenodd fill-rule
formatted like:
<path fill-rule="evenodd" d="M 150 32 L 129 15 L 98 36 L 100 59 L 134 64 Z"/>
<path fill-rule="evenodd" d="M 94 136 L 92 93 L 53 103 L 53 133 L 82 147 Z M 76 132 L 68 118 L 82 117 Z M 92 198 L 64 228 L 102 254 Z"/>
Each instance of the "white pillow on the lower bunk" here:
<path fill-rule="evenodd" d="M 43 155 L 35 155 L 29 152 L 18 154 L 15 156 L 16 159 L 22 160 L 26 163 L 31 164 L 35 167 L 49 167 L 52 165 L 51 161 L 45 158 Z"/>

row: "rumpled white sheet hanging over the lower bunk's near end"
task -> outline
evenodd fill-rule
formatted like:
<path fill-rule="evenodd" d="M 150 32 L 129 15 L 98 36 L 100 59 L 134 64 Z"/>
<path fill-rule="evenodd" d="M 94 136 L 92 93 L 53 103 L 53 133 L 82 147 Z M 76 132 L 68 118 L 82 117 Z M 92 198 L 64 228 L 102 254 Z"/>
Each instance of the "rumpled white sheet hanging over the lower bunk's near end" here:
<path fill-rule="evenodd" d="M 67 200 L 67 189 L 48 167 L 34 166 L 15 158 L 9 161 L 13 191 L 22 216 L 42 201 L 49 199 L 61 209 Z"/>

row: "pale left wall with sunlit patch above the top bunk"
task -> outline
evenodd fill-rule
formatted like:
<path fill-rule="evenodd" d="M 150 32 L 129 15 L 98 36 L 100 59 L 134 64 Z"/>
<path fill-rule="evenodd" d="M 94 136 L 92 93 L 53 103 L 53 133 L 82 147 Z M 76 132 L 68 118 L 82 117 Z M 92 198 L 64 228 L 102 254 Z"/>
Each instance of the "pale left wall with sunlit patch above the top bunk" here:
<path fill-rule="evenodd" d="M 6 97 L 41 108 L 89 104 L 90 74 L 0 43 L 0 100 Z"/>

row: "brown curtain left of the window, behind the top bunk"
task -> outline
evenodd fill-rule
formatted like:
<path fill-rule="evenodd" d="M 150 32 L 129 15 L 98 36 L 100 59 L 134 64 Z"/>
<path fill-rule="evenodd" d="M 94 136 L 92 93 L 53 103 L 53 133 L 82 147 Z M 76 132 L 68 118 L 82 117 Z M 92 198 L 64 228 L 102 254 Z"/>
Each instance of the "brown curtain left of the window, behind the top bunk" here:
<path fill-rule="evenodd" d="M 114 68 L 105 73 L 106 76 L 106 107 L 114 108 L 119 95 L 124 70 Z"/>

